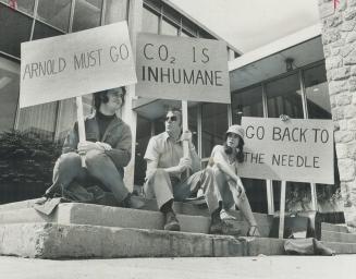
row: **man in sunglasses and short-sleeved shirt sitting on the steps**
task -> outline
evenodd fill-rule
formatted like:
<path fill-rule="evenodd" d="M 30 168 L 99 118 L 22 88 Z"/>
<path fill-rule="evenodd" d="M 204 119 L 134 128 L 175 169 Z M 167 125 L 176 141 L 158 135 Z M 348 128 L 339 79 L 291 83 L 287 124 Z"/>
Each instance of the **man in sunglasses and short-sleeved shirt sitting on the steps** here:
<path fill-rule="evenodd" d="M 182 114 L 170 109 L 165 116 L 165 132 L 150 138 L 144 192 L 157 198 L 158 208 L 164 214 L 164 230 L 179 231 L 180 223 L 172 209 L 173 201 L 182 202 L 206 185 L 205 199 L 211 214 L 210 233 L 235 234 L 233 228 L 220 219 L 221 196 L 213 183 L 213 173 L 200 170 L 200 158 L 192 143 L 192 133 L 182 133 Z M 187 141 L 189 158 L 183 157 L 182 141 Z M 187 177 L 187 170 L 195 173 Z M 231 229 L 231 230 L 230 230 Z"/>

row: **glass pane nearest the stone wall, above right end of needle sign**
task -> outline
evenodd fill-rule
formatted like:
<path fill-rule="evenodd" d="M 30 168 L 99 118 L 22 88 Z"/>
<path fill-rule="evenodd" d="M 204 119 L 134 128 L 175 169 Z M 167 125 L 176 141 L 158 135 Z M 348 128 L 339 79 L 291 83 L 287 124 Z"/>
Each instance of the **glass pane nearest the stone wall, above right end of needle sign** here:
<path fill-rule="evenodd" d="M 331 119 L 330 96 L 324 63 L 303 72 L 308 118 Z"/>

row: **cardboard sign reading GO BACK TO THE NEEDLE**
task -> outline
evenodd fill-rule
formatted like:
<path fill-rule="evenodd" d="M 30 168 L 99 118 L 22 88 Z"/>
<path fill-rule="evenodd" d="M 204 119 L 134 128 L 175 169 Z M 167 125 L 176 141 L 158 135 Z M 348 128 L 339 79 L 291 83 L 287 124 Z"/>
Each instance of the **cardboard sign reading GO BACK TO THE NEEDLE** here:
<path fill-rule="evenodd" d="M 243 178 L 334 183 L 331 120 L 243 118 Z"/>

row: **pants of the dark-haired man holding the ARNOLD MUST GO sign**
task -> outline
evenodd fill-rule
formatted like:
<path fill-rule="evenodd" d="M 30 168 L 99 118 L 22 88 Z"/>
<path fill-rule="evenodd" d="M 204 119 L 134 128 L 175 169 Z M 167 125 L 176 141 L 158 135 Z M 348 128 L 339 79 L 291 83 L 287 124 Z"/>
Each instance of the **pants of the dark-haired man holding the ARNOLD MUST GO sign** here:
<path fill-rule="evenodd" d="M 62 154 L 53 169 L 53 184 L 51 189 L 66 189 L 73 180 L 84 185 L 99 181 L 115 199 L 121 203 L 128 194 L 123 182 L 123 174 L 118 171 L 113 161 L 105 153 L 90 150 L 85 156 L 86 168 L 82 167 L 81 156 L 76 153 Z"/>

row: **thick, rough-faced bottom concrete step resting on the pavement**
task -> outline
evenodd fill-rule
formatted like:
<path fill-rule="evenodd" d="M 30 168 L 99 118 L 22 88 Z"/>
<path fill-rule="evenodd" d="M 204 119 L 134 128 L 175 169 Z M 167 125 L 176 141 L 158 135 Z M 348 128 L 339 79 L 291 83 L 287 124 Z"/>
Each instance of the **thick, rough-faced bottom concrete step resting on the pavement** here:
<path fill-rule="evenodd" d="M 0 225 L 0 254 L 39 258 L 282 255 L 283 240 L 85 225 Z"/>

